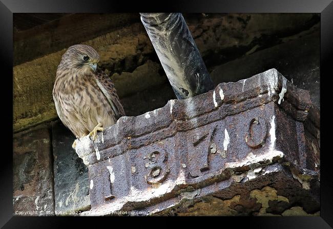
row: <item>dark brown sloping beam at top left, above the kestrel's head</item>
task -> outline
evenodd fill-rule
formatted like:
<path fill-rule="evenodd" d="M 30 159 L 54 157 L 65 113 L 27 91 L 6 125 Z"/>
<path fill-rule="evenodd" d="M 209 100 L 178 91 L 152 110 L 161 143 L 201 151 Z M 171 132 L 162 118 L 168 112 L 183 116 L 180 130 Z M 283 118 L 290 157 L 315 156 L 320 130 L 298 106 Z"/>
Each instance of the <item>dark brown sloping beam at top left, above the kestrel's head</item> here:
<path fill-rule="evenodd" d="M 133 13 L 68 14 L 23 32 L 14 32 L 14 66 L 140 22 Z"/>

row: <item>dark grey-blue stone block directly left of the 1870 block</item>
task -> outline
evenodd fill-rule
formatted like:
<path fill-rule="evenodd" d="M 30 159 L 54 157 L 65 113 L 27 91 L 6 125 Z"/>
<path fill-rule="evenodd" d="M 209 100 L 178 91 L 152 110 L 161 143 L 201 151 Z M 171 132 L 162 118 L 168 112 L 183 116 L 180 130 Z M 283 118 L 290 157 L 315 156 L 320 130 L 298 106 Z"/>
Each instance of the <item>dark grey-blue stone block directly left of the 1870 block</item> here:
<path fill-rule="evenodd" d="M 56 215 L 90 209 L 88 168 L 73 150 L 74 140 L 60 121 L 52 123 Z"/>

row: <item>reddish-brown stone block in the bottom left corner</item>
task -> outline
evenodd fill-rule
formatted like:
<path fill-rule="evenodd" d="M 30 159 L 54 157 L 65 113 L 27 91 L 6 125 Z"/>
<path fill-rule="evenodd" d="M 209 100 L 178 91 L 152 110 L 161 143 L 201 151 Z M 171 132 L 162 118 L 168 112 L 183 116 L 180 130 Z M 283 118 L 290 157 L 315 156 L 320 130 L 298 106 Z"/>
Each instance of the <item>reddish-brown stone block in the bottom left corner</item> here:
<path fill-rule="evenodd" d="M 54 213 L 52 148 L 46 125 L 13 136 L 13 214 Z"/>

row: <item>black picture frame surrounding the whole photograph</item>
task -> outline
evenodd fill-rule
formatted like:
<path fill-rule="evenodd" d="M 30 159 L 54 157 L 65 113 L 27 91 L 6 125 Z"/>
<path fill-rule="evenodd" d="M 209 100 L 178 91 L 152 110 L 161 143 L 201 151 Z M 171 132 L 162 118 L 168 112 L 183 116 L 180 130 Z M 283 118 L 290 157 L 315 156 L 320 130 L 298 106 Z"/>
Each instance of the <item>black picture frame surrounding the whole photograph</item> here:
<path fill-rule="evenodd" d="M 0 2 L 0 54 L 1 54 L 1 78 L 8 80 L 2 84 L 2 101 L 5 107 L 2 108 L 3 137 L 1 142 L 3 145 L 0 175 L 0 226 L 3 228 L 59 228 L 67 224 L 68 221 L 75 221 L 76 225 L 92 220 L 91 217 L 13 217 L 12 204 L 12 154 L 10 150 L 10 140 L 12 140 L 12 117 L 13 112 L 10 107 L 13 106 L 9 100 L 13 96 L 12 74 L 13 74 L 13 13 L 112 13 L 112 12 L 207 12 L 207 13 L 320 13 L 321 15 L 321 114 L 330 113 L 329 96 L 324 96 L 325 87 L 329 87 L 329 79 L 332 77 L 332 52 L 333 52 L 333 3 L 331 0 L 244 0 L 244 1 L 189 1 L 187 3 L 181 1 L 167 1 L 162 4 L 147 3 L 137 1 L 130 2 L 113 2 L 113 1 L 52 1 L 52 0 L 1 0 Z M 138 15 L 139 16 L 139 15 Z M 329 89 L 329 88 L 327 88 Z M 325 101 L 327 103 L 325 103 Z M 325 104 L 325 105 L 322 105 Z M 327 111 L 325 111 L 327 109 Z M 330 137 L 328 125 L 329 118 L 323 120 L 321 118 L 321 132 L 323 141 L 321 141 L 321 211 L 320 217 L 242 217 L 236 219 L 234 217 L 223 217 L 218 219 L 218 224 L 225 227 L 227 225 L 237 225 L 245 223 L 247 227 L 254 228 L 333 228 L 333 172 L 330 169 L 329 154 L 326 151 L 326 138 Z M 5 130 L 5 131 L 4 131 Z M 325 134 L 325 133 L 328 134 Z M 324 149 L 324 150 L 323 150 Z M 112 222 L 109 217 L 104 220 Z M 156 220 L 159 217 L 131 217 L 144 218 L 148 220 Z M 96 218 L 95 218 L 96 219 Z M 100 220 L 100 219 L 98 219 Z M 140 219 L 141 220 L 141 219 Z M 191 219 L 195 222 L 197 219 Z M 200 220 L 202 221 L 202 220 Z M 228 221 L 228 222 L 226 222 Z M 203 221 L 202 221 L 203 222 Z M 230 224 L 231 223 L 231 224 Z M 95 225 L 99 225 L 95 224 Z M 111 225 L 111 224 L 110 224 Z M 144 224 L 149 226 L 150 224 Z"/>

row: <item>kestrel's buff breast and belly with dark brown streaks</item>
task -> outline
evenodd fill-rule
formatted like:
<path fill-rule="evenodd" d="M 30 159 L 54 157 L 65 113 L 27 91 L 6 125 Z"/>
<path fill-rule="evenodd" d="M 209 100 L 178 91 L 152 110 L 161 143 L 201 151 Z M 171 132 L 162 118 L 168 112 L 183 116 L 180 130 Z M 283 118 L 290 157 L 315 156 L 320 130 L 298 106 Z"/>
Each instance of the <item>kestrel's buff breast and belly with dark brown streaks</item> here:
<path fill-rule="evenodd" d="M 116 122 L 111 105 L 92 75 L 68 80 L 59 91 L 59 99 L 67 126 L 76 136 L 89 134 L 98 123 L 107 127 Z"/>

